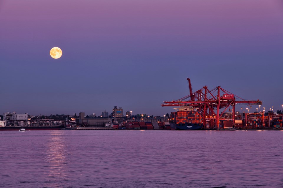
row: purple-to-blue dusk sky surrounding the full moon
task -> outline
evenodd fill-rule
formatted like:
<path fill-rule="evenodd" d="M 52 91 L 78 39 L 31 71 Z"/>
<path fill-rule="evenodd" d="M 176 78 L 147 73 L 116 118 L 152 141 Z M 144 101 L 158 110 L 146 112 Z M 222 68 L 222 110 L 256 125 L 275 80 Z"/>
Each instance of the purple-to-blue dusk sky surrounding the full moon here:
<path fill-rule="evenodd" d="M 279 0 L 0 0 L 0 114 L 163 115 L 187 77 L 277 110 L 282 47 Z"/>

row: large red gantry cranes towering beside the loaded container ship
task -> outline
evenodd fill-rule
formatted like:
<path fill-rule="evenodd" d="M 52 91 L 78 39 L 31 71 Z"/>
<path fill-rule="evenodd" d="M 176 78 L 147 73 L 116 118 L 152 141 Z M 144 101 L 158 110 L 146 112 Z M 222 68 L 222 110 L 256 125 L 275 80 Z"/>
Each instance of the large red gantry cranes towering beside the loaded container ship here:
<path fill-rule="evenodd" d="M 262 101 L 260 100 L 244 100 L 234 95 L 233 93 L 226 91 L 220 86 L 217 86 L 213 90 L 208 90 L 207 86 L 204 86 L 200 90 L 193 92 L 190 78 L 187 78 L 187 80 L 189 82 L 190 95 L 187 95 L 178 100 L 164 101 L 164 104 L 162 104 L 161 106 L 190 106 L 192 108 L 196 108 L 202 115 L 204 126 L 206 125 L 207 120 L 212 122 L 218 129 L 220 120 L 232 120 L 233 125 L 235 125 L 236 104 L 248 106 L 262 104 Z M 235 97 L 237 97 L 238 100 L 236 100 Z M 229 107 L 232 107 L 232 118 L 223 118 L 222 115 Z M 224 110 L 220 112 L 220 109 L 223 108 Z"/>

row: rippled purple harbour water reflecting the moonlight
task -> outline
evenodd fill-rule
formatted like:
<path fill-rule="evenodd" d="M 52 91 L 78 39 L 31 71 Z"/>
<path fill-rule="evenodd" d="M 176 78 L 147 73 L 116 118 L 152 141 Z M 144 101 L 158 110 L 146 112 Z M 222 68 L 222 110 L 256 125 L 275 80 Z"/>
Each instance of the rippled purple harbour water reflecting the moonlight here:
<path fill-rule="evenodd" d="M 0 131 L 0 187 L 283 187 L 283 131 Z"/>

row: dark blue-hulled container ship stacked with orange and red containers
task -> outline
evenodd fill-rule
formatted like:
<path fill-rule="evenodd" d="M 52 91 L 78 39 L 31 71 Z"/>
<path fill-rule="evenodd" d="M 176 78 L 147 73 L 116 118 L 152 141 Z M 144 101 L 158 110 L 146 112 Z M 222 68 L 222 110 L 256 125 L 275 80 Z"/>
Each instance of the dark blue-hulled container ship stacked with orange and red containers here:
<path fill-rule="evenodd" d="M 169 123 L 172 130 L 203 129 L 201 115 L 193 108 L 179 108 L 177 112 L 171 112 Z"/>

